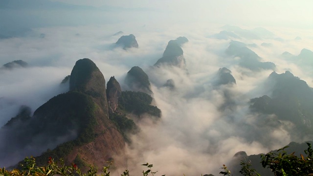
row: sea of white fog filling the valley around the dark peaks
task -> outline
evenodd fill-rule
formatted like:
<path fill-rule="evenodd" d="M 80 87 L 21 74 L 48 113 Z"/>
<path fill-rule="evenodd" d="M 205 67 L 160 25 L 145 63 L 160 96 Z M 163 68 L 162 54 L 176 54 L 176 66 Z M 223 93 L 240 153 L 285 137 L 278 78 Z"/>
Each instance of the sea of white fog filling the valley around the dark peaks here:
<path fill-rule="evenodd" d="M 123 30 L 124 35 L 134 34 L 139 48 L 114 48 L 120 35 L 112 35 L 119 30 Z M 302 48 L 313 50 L 310 31 L 268 30 L 275 34 L 274 38 L 237 40 L 256 44 L 250 49 L 262 57 L 263 62 L 275 63 L 277 73 L 290 70 L 313 87 L 312 70 L 299 67 L 281 56 L 284 51 L 298 55 Z M 67 86 L 60 86 L 60 82 L 70 74 L 78 59 L 89 58 L 107 81 L 115 76 L 122 89 L 127 71 L 132 66 L 143 68 L 152 84 L 156 106 L 162 110 L 158 122 L 149 118 L 138 122 L 142 131 L 132 136 L 133 143 L 126 150 L 127 159 L 121 158 L 125 161 L 121 170 L 127 165 L 131 173 L 140 174 L 143 170 L 140 164 L 149 162 L 159 174 L 216 174 L 236 152 L 259 154 L 291 141 L 307 140 L 292 136 L 288 132 L 292 124 L 287 121 L 282 121 L 279 126 L 260 125 L 258 118 L 275 117 L 251 113 L 248 102 L 264 94 L 270 96 L 270 88 L 264 87 L 264 81 L 272 71 L 253 72 L 238 66 L 236 58 L 224 53 L 230 39 L 209 37 L 219 31 L 218 27 L 195 30 L 192 27 L 182 29 L 179 25 L 168 30 L 138 27 L 132 31 L 112 26 L 46 27 L 33 29 L 29 37 L 2 39 L 1 65 L 23 60 L 29 67 L 0 70 L 1 126 L 17 114 L 21 105 L 34 111 L 49 98 L 67 91 Z M 45 38 L 39 38 L 41 33 Z M 161 58 L 168 41 L 179 36 L 189 40 L 182 46 L 188 72 L 177 67 L 151 67 Z M 294 40 L 297 36 L 302 40 Z M 272 45 L 264 47 L 262 43 Z M 214 86 L 221 67 L 232 71 L 237 85 Z M 174 90 L 162 87 L 168 79 L 174 80 Z"/>

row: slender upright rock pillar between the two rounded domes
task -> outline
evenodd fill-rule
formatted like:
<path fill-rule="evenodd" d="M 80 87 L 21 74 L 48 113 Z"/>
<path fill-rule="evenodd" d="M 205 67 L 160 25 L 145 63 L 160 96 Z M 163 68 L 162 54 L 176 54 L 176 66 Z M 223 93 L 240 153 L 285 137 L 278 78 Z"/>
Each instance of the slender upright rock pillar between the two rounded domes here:
<path fill-rule="evenodd" d="M 107 98 L 110 113 L 116 110 L 118 105 L 118 98 L 120 97 L 121 93 L 122 93 L 121 86 L 116 81 L 114 76 L 112 76 L 107 84 Z"/>

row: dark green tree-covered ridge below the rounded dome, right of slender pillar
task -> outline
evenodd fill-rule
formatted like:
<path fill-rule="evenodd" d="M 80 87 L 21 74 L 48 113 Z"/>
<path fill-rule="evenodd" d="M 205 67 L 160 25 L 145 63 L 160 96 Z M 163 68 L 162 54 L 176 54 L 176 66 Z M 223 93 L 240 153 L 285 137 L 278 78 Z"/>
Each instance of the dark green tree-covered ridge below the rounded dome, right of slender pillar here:
<path fill-rule="evenodd" d="M 161 117 L 161 110 L 156 106 L 151 106 L 152 97 L 147 93 L 122 91 L 118 99 L 118 108 L 127 112 L 132 112 L 138 116 L 148 113 L 156 117 Z"/>

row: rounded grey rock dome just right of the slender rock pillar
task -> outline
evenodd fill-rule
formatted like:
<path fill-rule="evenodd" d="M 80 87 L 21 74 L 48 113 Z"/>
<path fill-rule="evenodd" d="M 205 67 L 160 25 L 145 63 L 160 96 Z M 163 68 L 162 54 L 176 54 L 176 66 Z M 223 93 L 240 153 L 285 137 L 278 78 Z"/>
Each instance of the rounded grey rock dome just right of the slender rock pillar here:
<path fill-rule="evenodd" d="M 132 91 L 153 93 L 148 75 L 139 66 L 134 66 L 127 72 L 125 84 Z"/>

